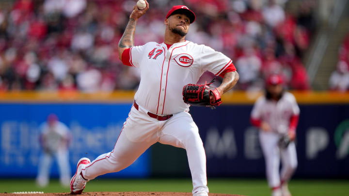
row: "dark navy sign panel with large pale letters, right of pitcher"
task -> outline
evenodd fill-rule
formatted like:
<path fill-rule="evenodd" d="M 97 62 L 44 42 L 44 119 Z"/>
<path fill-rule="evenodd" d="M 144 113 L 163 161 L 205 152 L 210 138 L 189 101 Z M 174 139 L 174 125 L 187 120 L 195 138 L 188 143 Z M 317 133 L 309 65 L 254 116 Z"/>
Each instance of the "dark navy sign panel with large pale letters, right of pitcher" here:
<path fill-rule="evenodd" d="M 349 177 L 349 105 L 301 105 L 297 127 L 298 177 Z M 215 110 L 190 107 L 207 156 L 208 176 L 263 177 L 265 163 L 251 105 Z"/>

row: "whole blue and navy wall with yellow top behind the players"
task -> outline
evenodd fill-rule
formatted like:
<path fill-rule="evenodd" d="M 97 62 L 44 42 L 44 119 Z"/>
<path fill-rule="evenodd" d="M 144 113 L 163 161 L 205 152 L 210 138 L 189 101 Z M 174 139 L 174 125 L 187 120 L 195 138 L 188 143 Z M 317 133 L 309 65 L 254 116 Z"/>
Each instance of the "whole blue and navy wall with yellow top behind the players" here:
<path fill-rule="evenodd" d="M 294 92 L 301 115 L 297 129 L 298 177 L 349 177 L 349 93 Z M 191 107 L 213 177 L 263 177 L 258 131 L 249 123 L 260 93 L 223 96 L 216 110 Z M 131 107 L 133 92 L 0 92 L 0 177 L 34 177 L 41 153 L 38 127 L 55 113 L 73 135 L 70 164 L 111 151 Z M 56 165 L 52 174 L 58 175 Z M 109 177 L 189 176 L 182 149 L 156 144 L 132 166 Z"/>

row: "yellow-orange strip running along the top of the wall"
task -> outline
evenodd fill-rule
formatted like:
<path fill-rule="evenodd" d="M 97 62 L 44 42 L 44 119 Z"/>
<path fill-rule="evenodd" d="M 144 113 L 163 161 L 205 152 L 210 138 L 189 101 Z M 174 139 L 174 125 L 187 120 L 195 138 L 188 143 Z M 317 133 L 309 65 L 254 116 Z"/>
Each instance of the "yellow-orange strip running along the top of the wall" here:
<path fill-rule="evenodd" d="M 130 103 L 134 91 L 82 93 L 74 91 L 0 91 L 0 103 Z M 349 92 L 291 91 L 299 104 L 349 104 Z M 262 92 L 233 91 L 223 104 L 253 104 Z"/>

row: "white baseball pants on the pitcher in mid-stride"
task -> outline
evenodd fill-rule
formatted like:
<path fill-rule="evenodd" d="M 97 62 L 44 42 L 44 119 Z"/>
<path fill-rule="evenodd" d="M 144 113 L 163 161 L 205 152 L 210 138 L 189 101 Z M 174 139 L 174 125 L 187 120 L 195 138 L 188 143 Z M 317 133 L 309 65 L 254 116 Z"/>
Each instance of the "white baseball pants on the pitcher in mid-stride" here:
<path fill-rule="evenodd" d="M 199 130 L 188 112 L 174 114 L 166 121 L 149 117 L 142 106 L 132 106 L 124 127 L 111 152 L 98 156 L 82 169 L 85 179 L 118 172 L 131 165 L 156 142 L 184 148 L 187 151 L 193 191 L 208 193 L 206 155 Z"/>

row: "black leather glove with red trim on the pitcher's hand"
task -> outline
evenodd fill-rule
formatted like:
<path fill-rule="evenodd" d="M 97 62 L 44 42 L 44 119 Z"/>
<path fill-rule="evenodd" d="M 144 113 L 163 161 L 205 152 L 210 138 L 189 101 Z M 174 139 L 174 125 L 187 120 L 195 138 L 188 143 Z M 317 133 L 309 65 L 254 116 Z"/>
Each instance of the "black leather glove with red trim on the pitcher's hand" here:
<path fill-rule="evenodd" d="M 183 101 L 191 106 L 207 106 L 212 109 L 222 104 L 221 95 L 217 89 L 209 89 L 209 85 L 187 84 L 183 87 Z M 210 98 L 212 96 L 212 99 Z"/>

